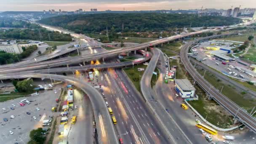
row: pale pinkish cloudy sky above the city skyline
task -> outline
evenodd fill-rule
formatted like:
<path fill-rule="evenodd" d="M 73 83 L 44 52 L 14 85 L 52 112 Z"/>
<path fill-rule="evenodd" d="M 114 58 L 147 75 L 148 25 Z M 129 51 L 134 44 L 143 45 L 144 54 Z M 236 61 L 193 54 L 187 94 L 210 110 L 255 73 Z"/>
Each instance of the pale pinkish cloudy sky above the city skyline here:
<path fill-rule="evenodd" d="M 256 8 L 256 0 L 0 0 L 0 11 L 139 11 L 139 10 L 188 10 L 203 8 L 228 9 L 234 7 Z M 252 7 L 254 6 L 254 7 Z"/>

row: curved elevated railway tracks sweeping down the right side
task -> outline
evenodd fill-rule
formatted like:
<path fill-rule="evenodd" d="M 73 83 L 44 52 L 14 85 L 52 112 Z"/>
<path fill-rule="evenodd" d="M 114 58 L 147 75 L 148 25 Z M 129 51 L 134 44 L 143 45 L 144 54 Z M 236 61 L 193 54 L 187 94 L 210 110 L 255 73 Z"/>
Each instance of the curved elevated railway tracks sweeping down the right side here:
<path fill-rule="evenodd" d="M 230 35 L 230 34 L 226 34 Z M 232 115 L 235 115 L 235 118 L 238 119 L 241 123 L 245 124 L 248 128 L 250 128 L 254 133 L 256 133 L 256 118 L 251 116 L 246 110 L 239 107 L 229 98 L 224 96 L 222 93 L 219 92 L 218 89 L 214 88 L 207 80 L 205 80 L 197 70 L 192 66 L 187 56 L 189 48 L 191 45 L 199 42 L 200 40 L 206 40 L 210 38 L 216 38 L 223 35 L 215 35 L 210 37 L 204 37 L 192 42 L 187 43 L 186 45 L 182 46 L 181 48 L 181 62 L 184 64 L 185 69 L 189 74 L 194 78 L 194 80 L 200 85 L 201 88 L 205 92 L 207 92 L 212 99 L 222 105 L 225 109 L 227 109 Z"/>

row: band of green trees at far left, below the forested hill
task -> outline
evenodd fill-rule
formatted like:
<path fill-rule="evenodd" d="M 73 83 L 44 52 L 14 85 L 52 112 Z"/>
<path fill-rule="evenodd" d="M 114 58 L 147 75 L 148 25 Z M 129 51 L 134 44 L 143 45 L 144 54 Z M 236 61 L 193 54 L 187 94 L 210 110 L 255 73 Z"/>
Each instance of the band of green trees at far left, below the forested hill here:
<path fill-rule="evenodd" d="M 1 39 L 71 41 L 70 34 L 40 29 L 0 29 Z"/>

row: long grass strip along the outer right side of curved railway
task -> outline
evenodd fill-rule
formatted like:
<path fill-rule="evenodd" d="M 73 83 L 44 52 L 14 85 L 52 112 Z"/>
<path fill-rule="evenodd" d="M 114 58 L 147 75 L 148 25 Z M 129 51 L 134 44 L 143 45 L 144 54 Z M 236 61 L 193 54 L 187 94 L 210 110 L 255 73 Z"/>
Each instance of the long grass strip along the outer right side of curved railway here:
<path fill-rule="evenodd" d="M 201 75 L 204 74 L 203 69 L 197 69 L 197 71 Z M 221 90 L 221 88 L 223 86 L 222 94 L 227 96 L 230 100 L 235 102 L 240 107 L 250 110 L 250 109 L 253 109 L 253 107 L 255 106 L 256 100 L 246 98 L 245 93 L 240 93 L 240 92 L 236 91 L 235 90 L 236 88 L 234 86 L 227 85 L 226 83 L 221 82 L 221 80 L 218 77 L 211 74 L 210 72 L 205 72 L 204 78 L 205 78 L 205 80 L 207 80 L 209 83 L 211 83 L 215 88 L 217 88 L 219 90 Z"/>

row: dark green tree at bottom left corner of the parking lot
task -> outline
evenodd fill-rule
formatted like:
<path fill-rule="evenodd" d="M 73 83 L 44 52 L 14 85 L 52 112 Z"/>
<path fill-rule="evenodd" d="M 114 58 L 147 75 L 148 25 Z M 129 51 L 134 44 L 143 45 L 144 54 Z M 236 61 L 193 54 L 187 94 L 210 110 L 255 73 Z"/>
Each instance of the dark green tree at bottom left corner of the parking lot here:
<path fill-rule="evenodd" d="M 46 136 L 42 133 L 45 133 L 43 128 L 37 128 L 36 130 L 30 131 L 30 141 L 28 142 L 28 144 L 43 144 L 46 140 Z"/>

